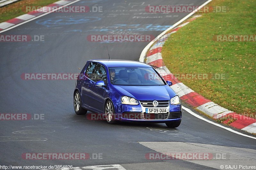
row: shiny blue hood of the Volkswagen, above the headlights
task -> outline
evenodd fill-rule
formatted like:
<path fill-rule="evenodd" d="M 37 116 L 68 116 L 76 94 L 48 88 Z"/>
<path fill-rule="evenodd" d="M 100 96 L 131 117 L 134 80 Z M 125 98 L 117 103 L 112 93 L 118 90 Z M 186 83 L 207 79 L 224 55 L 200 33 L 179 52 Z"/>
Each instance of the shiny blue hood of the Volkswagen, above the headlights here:
<path fill-rule="evenodd" d="M 124 96 L 137 100 L 170 100 L 177 94 L 168 85 L 161 86 L 124 86 L 113 85 Z"/>

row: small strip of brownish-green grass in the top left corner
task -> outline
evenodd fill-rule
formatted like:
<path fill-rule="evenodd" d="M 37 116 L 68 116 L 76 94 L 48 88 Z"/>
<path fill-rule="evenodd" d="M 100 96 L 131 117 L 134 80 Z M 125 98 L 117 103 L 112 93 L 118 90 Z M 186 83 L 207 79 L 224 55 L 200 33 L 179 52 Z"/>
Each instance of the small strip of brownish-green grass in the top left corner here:
<path fill-rule="evenodd" d="M 58 0 L 20 0 L 12 4 L 0 7 L 0 23 L 25 14 L 24 6 L 46 6 Z"/>

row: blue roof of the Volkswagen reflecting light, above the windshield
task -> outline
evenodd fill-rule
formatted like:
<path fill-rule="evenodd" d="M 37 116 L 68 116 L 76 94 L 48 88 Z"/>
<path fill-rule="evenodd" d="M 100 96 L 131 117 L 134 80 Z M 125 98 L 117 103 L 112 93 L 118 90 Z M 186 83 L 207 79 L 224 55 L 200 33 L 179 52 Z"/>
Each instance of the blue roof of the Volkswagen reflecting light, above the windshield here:
<path fill-rule="evenodd" d="M 148 64 L 138 62 L 138 61 L 131 61 L 131 60 L 89 60 L 90 62 L 98 62 L 103 65 L 106 65 L 108 68 L 110 67 L 151 67 Z"/>

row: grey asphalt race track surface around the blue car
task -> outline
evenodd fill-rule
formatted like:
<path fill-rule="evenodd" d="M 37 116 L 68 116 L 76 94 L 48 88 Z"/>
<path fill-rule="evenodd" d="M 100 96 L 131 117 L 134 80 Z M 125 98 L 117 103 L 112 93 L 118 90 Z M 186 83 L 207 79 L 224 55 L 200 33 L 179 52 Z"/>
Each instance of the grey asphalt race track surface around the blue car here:
<path fill-rule="evenodd" d="M 255 139 L 200 120 L 185 110 L 181 125 L 176 129 L 168 129 L 165 124 L 110 125 L 75 114 L 75 80 L 21 78 L 22 73 L 80 73 L 79 68 L 82 69 L 87 60 L 108 58 L 106 46 L 111 59 L 138 61 L 141 51 L 149 42 L 102 43 L 87 41 L 86 37 L 124 33 L 157 36 L 188 13 L 151 14 L 145 12 L 145 6 L 196 6 L 205 1 L 81 0 L 72 5 L 102 6 L 103 12 L 50 13 L 1 33 L 44 35 L 44 41 L 0 44 L 0 113 L 44 114 L 44 120 L 0 122 L 0 165 L 84 167 L 120 164 L 117 169 L 255 166 Z M 227 157 L 204 161 L 152 160 L 145 157 L 147 153 L 158 152 L 225 153 Z M 98 154 L 102 155 L 102 159 L 27 160 L 22 157 L 23 153 L 89 153 L 91 158 L 93 154 Z"/>

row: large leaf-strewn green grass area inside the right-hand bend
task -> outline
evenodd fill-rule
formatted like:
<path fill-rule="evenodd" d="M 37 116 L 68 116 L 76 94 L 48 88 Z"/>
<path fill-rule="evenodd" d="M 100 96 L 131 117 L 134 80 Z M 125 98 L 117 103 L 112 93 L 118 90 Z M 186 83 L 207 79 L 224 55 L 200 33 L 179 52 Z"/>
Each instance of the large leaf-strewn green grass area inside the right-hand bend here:
<path fill-rule="evenodd" d="M 223 75 L 180 81 L 209 100 L 256 118 L 256 42 L 219 42 L 214 35 L 255 35 L 256 0 L 213 0 L 227 12 L 203 13 L 165 42 L 162 55 L 172 73 Z"/>

